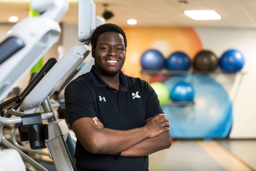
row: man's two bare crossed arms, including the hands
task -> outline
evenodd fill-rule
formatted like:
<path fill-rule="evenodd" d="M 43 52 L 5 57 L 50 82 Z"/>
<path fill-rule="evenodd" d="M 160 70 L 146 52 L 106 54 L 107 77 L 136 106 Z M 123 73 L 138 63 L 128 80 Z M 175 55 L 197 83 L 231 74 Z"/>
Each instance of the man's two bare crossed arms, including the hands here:
<path fill-rule="evenodd" d="M 139 157 L 170 147 L 168 128 L 170 124 L 165 116 L 158 114 L 146 120 L 144 126 L 125 131 L 108 129 L 104 126 L 100 128 L 92 118 L 84 117 L 75 121 L 72 129 L 90 153 L 122 152 L 121 156 Z"/>

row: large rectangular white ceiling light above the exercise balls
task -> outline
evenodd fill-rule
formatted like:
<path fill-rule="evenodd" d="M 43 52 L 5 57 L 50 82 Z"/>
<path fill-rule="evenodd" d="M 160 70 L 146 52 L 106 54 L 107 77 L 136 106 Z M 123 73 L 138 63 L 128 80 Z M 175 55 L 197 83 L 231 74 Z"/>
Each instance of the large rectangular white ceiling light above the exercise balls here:
<path fill-rule="evenodd" d="M 220 20 L 221 16 L 214 10 L 188 10 L 184 11 L 188 17 L 194 20 Z"/>

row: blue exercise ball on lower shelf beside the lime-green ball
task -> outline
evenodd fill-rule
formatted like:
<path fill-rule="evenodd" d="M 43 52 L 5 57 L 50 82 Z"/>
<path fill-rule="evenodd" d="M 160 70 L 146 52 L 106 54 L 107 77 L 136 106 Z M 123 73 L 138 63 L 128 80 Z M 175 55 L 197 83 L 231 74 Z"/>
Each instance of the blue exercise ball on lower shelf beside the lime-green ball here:
<path fill-rule="evenodd" d="M 170 98 L 173 101 L 193 101 L 194 88 L 188 83 L 179 82 L 173 87 Z"/>

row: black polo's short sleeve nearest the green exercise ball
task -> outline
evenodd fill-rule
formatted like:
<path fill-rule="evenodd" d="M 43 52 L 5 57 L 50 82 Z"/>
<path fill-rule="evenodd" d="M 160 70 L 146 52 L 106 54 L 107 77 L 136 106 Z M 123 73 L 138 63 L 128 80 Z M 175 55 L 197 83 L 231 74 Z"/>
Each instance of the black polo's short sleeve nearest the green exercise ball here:
<path fill-rule="evenodd" d="M 146 117 L 145 120 L 159 113 L 164 113 L 155 90 L 146 82 Z"/>

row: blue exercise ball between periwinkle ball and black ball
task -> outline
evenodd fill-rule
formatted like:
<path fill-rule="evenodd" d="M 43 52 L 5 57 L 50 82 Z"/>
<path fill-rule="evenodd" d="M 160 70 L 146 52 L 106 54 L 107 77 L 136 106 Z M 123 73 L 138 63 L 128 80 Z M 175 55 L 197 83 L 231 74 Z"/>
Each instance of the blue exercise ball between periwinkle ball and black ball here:
<path fill-rule="evenodd" d="M 188 70 L 190 67 L 190 59 L 183 52 L 174 52 L 166 61 L 169 70 Z"/>

